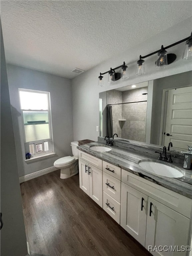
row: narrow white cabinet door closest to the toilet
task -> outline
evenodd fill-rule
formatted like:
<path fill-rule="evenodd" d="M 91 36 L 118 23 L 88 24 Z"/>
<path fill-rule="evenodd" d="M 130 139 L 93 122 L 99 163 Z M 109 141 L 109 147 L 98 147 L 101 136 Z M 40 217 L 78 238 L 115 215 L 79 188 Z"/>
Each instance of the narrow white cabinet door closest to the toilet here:
<path fill-rule="evenodd" d="M 79 186 L 89 196 L 88 163 L 79 159 Z"/>

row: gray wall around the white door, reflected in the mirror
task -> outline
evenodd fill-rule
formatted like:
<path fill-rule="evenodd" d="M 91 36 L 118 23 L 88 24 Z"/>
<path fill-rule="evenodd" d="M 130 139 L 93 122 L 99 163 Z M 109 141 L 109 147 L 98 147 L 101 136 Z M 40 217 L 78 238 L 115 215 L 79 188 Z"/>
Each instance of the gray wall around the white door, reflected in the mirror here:
<path fill-rule="evenodd" d="M 173 76 L 163 77 L 153 81 L 153 107 L 151 122 L 152 129 L 150 143 L 159 145 L 163 89 L 185 87 L 187 85 L 192 85 L 191 71 Z"/>

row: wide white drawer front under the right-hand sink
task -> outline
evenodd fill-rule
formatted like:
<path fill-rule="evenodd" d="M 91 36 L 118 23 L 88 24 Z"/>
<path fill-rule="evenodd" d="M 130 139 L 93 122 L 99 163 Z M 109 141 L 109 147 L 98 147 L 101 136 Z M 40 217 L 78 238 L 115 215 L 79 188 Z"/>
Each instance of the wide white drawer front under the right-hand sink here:
<path fill-rule="evenodd" d="M 190 218 L 192 199 L 123 169 L 122 182 Z"/>

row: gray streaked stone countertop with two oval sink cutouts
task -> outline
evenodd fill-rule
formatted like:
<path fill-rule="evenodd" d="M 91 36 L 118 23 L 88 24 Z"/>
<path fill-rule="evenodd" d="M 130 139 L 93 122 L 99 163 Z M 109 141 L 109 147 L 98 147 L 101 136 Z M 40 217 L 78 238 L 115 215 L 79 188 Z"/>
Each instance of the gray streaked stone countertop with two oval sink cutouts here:
<path fill-rule="evenodd" d="M 187 170 L 182 167 L 183 156 L 174 152 L 170 152 L 172 155 L 177 156 L 177 158 L 172 157 L 174 163 L 165 163 L 157 160 L 158 154 L 154 153 L 155 150 L 159 149 L 160 151 L 162 149 L 160 146 L 153 147 L 151 145 L 146 145 L 145 147 L 141 147 L 131 143 L 115 141 L 114 146 L 110 146 L 110 151 L 97 152 L 91 150 L 90 147 L 95 145 L 105 146 L 105 143 L 100 140 L 98 142 L 78 146 L 77 148 L 85 153 L 100 158 L 108 163 L 119 166 L 126 171 L 134 173 L 144 179 L 147 179 L 192 199 L 192 170 Z M 141 166 L 139 166 L 138 162 L 141 162 L 142 160 L 154 160 L 154 162 L 172 166 L 181 171 L 183 173 L 183 177 L 168 178 L 164 176 L 153 175 L 152 173 L 145 171 Z"/>

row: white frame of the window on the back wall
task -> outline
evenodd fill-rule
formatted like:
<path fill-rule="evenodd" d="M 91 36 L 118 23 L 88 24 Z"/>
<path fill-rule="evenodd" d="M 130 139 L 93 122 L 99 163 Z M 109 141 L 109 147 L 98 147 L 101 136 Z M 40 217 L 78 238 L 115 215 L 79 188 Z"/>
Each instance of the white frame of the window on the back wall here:
<path fill-rule="evenodd" d="M 42 94 L 47 94 L 47 100 L 48 100 L 48 109 L 22 109 L 21 108 L 21 99 L 20 99 L 20 93 L 19 93 L 19 104 L 20 104 L 20 110 L 21 110 L 21 119 L 22 119 L 22 128 L 23 128 L 23 138 L 24 138 L 24 145 L 25 145 L 25 151 L 26 153 L 29 152 L 29 145 L 34 146 L 34 154 L 31 154 L 32 156 L 35 155 L 42 155 L 45 153 L 49 153 L 49 152 L 54 152 L 54 148 L 53 148 L 53 132 L 52 132 L 52 118 L 51 118 L 51 101 L 50 101 L 50 92 L 44 92 L 44 91 L 38 91 L 38 90 L 29 90 L 29 89 L 22 89 L 19 88 L 18 92 L 20 91 L 25 91 L 25 92 L 33 92 L 33 93 L 42 93 Z M 26 142 L 26 137 L 25 137 L 25 124 L 24 124 L 24 118 L 23 118 L 23 112 L 24 111 L 38 111 L 38 112 L 48 112 L 48 118 L 49 118 L 49 139 L 45 139 L 45 140 L 35 140 L 35 141 L 29 141 Z M 49 150 L 45 151 L 44 149 L 44 142 L 48 142 L 49 145 Z M 43 151 L 37 152 L 36 151 L 36 144 L 41 144 L 43 145 Z"/>

